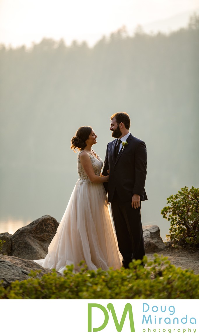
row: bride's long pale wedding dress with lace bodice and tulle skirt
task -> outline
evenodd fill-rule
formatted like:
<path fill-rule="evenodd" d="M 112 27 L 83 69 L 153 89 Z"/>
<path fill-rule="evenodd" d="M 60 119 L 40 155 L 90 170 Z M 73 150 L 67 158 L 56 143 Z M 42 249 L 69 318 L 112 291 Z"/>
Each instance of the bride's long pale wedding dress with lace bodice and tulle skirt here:
<path fill-rule="evenodd" d="M 93 151 L 93 150 L 92 150 Z M 101 267 L 119 269 L 122 255 L 118 249 L 117 238 L 110 215 L 107 194 L 102 183 L 93 183 L 88 179 L 81 163 L 79 151 L 76 182 L 66 211 L 52 239 L 45 259 L 34 260 L 46 268 L 54 268 L 60 273 L 66 265 L 74 265 L 74 271 L 84 261 L 88 269 Z M 103 161 L 88 154 L 96 175 L 100 175 Z"/>

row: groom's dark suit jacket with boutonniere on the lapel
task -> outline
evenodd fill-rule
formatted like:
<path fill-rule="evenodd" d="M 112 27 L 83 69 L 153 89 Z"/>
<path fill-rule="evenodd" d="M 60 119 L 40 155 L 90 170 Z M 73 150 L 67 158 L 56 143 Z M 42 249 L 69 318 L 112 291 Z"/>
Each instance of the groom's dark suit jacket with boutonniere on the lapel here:
<path fill-rule="evenodd" d="M 108 175 L 109 182 L 104 183 L 108 200 L 111 202 L 115 189 L 121 201 L 132 199 L 133 194 L 140 195 L 140 200 L 147 200 L 144 190 L 146 179 L 147 153 L 144 141 L 135 138 L 132 134 L 127 138 L 128 145 L 121 149 L 115 161 L 115 147 L 117 139 L 107 145 L 103 175 Z"/>

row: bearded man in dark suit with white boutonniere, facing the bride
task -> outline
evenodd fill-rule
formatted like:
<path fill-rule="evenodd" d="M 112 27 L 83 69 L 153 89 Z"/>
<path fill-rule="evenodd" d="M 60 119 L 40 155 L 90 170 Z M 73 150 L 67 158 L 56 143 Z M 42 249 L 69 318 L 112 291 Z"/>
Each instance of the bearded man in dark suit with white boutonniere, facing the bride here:
<path fill-rule="evenodd" d="M 112 137 L 107 145 L 103 175 L 109 170 L 109 182 L 104 183 L 116 229 L 123 266 L 145 255 L 141 222 L 141 201 L 147 200 L 146 145 L 130 132 L 130 118 L 126 112 L 111 116 Z"/>

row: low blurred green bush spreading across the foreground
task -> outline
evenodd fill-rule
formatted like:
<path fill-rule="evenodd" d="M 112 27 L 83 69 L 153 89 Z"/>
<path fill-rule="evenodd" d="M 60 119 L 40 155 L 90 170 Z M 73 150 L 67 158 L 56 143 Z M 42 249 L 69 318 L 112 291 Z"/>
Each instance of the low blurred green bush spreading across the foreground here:
<path fill-rule="evenodd" d="M 154 255 L 143 268 L 140 260 L 130 269 L 79 273 L 68 266 L 64 276 L 56 272 L 15 281 L 7 289 L 0 286 L 1 299 L 199 299 L 199 276 L 192 270 L 171 265 L 167 258 Z"/>

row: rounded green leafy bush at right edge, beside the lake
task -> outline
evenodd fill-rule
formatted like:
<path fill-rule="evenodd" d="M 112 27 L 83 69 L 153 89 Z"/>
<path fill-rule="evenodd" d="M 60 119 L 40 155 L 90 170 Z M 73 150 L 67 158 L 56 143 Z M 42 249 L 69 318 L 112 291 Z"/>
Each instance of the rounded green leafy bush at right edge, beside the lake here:
<path fill-rule="evenodd" d="M 171 221 L 168 240 L 181 246 L 199 247 L 199 188 L 181 188 L 167 199 L 161 210 L 163 218 Z"/>

